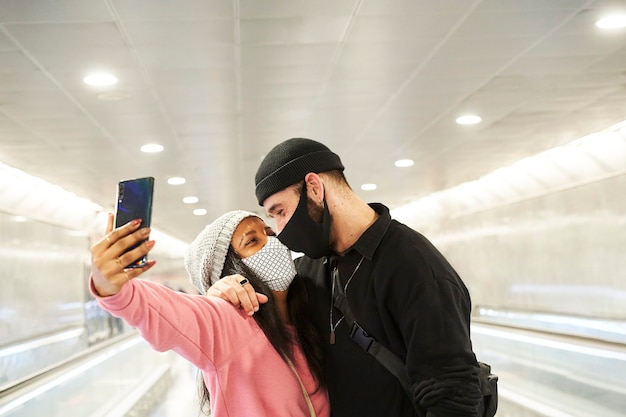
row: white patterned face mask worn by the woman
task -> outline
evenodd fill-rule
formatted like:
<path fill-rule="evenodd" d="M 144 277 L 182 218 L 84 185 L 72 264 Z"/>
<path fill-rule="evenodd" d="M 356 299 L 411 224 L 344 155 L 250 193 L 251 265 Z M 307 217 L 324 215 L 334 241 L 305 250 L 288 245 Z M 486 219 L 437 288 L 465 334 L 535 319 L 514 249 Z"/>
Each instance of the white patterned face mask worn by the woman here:
<path fill-rule="evenodd" d="M 243 258 L 241 262 L 273 291 L 287 290 L 296 276 L 291 251 L 274 236 L 268 236 L 267 243 L 260 251 Z"/>

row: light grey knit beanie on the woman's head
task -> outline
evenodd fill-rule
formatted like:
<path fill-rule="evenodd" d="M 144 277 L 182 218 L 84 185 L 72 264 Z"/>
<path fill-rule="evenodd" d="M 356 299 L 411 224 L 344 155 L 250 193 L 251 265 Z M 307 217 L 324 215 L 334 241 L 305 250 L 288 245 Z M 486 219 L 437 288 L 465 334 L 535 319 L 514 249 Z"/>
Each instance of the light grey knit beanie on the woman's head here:
<path fill-rule="evenodd" d="M 209 287 L 222 278 L 233 233 L 243 219 L 251 216 L 259 217 L 249 211 L 229 211 L 206 226 L 189 245 L 185 268 L 189 280 L 201 294 L 206 294 Z"/>

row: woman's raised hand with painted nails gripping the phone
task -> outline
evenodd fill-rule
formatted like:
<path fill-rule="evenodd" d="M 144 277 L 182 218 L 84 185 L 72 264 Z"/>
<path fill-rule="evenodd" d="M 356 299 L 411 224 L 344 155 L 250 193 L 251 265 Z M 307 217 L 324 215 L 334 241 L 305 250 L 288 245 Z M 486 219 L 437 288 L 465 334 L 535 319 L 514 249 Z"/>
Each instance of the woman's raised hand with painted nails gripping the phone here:
<path fill-rule="evenodd" d="M 91 247 L 91 277 L 100 296 L 117 294 L 124 284 L 156 263 L 150 260 L 142 267 L 126 268 L 154 247 L 154 240 L 149 240 L 126 252 L 150 235 L 149 228 L 140 227 L 141 220 L 133 220 L 113 230 L 113 214 L 109 214 L 106 234 Z"/>

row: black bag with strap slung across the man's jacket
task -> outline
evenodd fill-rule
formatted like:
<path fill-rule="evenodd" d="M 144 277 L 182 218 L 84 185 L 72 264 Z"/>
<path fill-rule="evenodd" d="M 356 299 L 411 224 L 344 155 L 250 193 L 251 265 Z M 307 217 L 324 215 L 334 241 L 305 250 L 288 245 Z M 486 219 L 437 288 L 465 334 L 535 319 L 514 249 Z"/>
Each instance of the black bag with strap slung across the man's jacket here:
<path fill-rule="evenodd" d="M 341 288 L 341 285 L 338 287 L 339 291 L 335 294 L 333 304 L 343 313 L 344 320 L 348 325 L 350 338 L 364 351 L 376 358 L 376 360 L 400 381 L 413 407 L 419 412 L 417 404 L 415 404 L 415 397 L 411 393 L 409 375 L 404 366 L 404 362 L 389 349 L 378 343 L 376 339 L 370 336 L 359 323 L 357 323 L 350 309 L 350 305 L 348 304 L 348 300 L 343 293 L 343 288 Z M 478 415 L 479 417 L 493 417 L 496 415 L 498 409 L 498 376 L 491 373 L 490 365 L 484 362 L 478 362 L 478 365 L 480 365 L 478 380 L 483 396 Z"/>

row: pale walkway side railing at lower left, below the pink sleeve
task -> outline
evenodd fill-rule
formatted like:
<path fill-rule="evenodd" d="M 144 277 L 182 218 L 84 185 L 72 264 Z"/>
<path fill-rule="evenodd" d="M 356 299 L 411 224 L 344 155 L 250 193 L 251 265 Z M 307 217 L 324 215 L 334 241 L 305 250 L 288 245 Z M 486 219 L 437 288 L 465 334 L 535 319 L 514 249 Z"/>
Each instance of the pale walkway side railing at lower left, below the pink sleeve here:
<path fill-rule="evenodd" d="M 140 415 L 167 388 L 169 363 L 136 332 L 122 334 L 0 391 L 0 416 Z"/>

